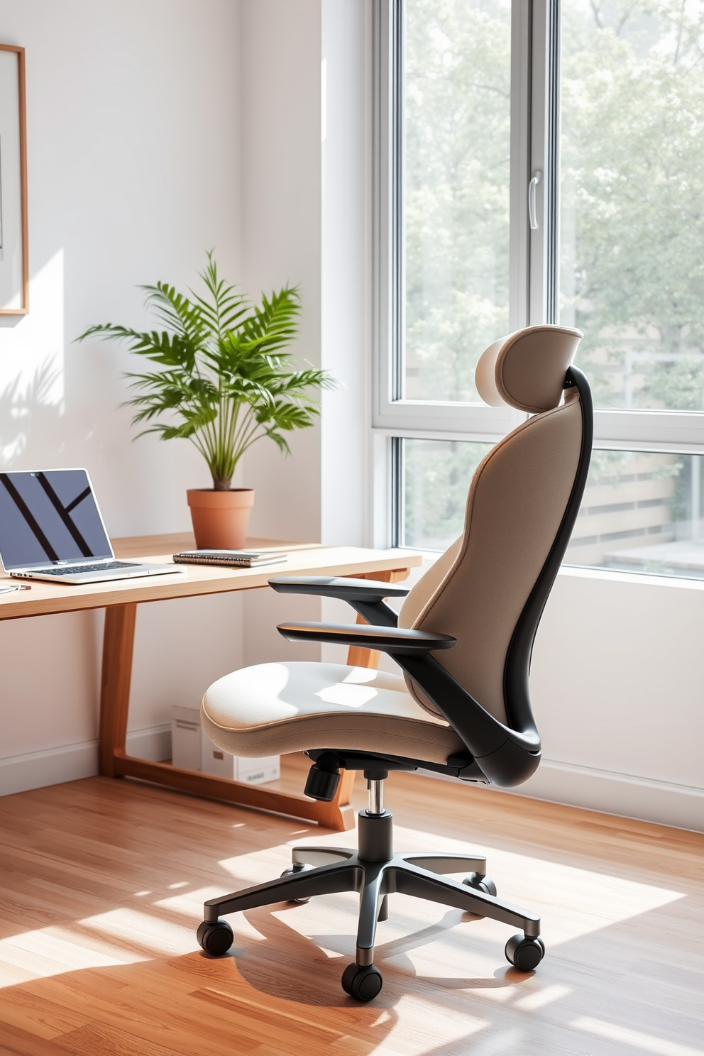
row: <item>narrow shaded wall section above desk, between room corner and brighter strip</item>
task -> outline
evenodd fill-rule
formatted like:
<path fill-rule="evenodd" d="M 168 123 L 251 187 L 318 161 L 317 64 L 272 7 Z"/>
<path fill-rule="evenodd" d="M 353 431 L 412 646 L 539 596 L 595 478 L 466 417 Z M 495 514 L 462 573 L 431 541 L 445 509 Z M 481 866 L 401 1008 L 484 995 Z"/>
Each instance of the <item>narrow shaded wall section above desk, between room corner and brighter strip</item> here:
<path fill-rule="evenodd" d="M 299 285 L 297 355 L 320 366 L 320 0 L 243 0 L 242 234 L 255 294 Z M 251 448 L 252 535 L 320 540 L 320 426 Z"/>

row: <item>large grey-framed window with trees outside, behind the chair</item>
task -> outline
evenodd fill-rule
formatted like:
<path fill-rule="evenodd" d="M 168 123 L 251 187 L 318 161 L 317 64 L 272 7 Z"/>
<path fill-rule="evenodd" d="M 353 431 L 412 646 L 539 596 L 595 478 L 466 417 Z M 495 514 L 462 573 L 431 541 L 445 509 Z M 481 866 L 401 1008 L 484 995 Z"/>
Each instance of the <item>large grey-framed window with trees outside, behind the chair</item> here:
<path fill-rule="evenodd" d="M 704 576 L 704 2 L 378 0 L 378 539 L 443 549 L 482 348 L 576 325 L 595 453 L 567 560 Z M 384 467 L 380 472 L 385 472 Z"/>

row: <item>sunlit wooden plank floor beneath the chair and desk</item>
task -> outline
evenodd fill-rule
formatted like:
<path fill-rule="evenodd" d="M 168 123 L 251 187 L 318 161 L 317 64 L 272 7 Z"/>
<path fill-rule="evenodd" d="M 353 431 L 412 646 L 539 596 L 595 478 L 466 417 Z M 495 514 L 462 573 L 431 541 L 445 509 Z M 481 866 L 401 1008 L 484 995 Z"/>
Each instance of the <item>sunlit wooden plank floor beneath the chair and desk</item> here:
<path fill-rule="evenodd" d="M 399 849 L 488 849 L 543 914 L 536 973 L 505 961 L 510 928 L 400 894 L 370 1004 L 340 987 L 354 894 L 231 918 L 209 959 L 204 899 L 355 833 L 92 778 L 0 800 L 0 1053 L 704 1054 L 702 836 L 417 775 L 386 798 Z"/>

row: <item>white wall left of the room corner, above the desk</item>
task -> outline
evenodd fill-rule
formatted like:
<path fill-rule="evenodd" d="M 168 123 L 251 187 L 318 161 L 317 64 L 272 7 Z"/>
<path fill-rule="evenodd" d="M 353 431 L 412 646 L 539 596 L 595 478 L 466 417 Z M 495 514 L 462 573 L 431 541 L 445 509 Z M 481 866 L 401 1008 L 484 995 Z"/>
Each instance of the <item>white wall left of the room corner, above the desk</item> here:
<path fill-rule="evenodd" d="M 192 283 L 206 248 L 241 272 L 237 12 L 0 2 L 3 39 L 26 48 L 32 275 L 30 315 L 0 333 L 3 463 L 87 465 L 115 535 L 186 528 L 185 488 L 208 474 L 188 444 L 131 444 L 129 357 L 73 341 L 142 322 L 137 284 Z"/>

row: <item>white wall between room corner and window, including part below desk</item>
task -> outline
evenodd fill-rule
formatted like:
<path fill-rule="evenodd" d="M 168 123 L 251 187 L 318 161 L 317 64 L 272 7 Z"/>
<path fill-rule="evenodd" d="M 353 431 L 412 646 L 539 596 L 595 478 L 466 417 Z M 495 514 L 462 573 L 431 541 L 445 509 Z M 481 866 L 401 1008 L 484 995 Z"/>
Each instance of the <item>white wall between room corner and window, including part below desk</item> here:
<path fill-rule="evenodd" d="M 266 444 L 245 458 L 252 534 L 266 538 L 366 541 L 368 33 L 360 0 L 242 6 L 245 281 L 252 290 L 300 283 L 298 355 L 339 382 L 323 393 L 321 421 L 291 437 L 291 458 Z M 329 618 L 329 604 L 263 591 L 243 603 L 245 662 L 320 657 L 316 644 L 285 642 L 275 624 Z"/>

